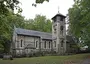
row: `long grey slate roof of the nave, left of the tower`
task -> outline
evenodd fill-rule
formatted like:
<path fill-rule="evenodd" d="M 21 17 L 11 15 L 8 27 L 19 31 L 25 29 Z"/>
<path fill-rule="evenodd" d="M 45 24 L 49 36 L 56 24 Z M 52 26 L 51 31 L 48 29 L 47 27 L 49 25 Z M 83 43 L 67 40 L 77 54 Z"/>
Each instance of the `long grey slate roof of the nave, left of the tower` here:
<path fill-rule="evenodd" d="M 52 34 L 47 33 L 47 32 L 27 30 L 27 29 L 22 29 L 22 28 L 15 28 L 15 32 L 19 35 L 38 36 L 38 37 L 41 37 L 42 39 L 52 40 Z"/>

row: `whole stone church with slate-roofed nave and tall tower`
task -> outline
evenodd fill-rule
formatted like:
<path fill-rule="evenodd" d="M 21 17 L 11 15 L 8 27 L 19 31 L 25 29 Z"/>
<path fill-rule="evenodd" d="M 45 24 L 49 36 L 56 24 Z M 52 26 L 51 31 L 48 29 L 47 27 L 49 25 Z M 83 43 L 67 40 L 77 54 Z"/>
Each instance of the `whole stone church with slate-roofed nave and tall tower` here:
<path fill-rule="evenodd" d="M 75 45 L 73 38 L 66 36 L 65 18 L 60 13 L 52 18 L 52 33 L 14 28 L 12 53 L 22 55 L 53 50 L 57 54 L 65 54 L 75 51 L 71 48 Z"/>

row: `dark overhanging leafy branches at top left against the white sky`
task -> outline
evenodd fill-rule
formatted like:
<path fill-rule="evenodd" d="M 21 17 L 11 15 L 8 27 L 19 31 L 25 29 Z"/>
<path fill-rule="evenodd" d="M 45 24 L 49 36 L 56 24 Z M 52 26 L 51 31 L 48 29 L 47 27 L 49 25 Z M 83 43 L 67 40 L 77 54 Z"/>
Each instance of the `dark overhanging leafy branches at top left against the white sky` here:
<path fill-rule="evenodd" d="M 43 3 L 44 1 L 49 0 L 35 0 L 35 3 Z M 0 14 L 7 15 L 9 10 L 14 12 L 14 9 L 18 10 L 18 13 L 22 12 L 22 9 L 19 7 L 19 0 L 0 0 Z M 36 6 L 35 4 L 32 4 Z"/>

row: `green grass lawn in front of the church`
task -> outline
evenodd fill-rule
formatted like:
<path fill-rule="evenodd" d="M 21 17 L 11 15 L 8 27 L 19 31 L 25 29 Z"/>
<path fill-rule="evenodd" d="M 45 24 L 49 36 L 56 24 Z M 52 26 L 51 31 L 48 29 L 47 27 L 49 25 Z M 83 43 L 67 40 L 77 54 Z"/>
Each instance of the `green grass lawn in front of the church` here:
<path fill-rule="evenodd" d="M 88 54 L 76 54 L 69 56 L 43 56 L 32 58 L 14 58 L 14 60 L 2 60 L 0 64 L 80 64 L 86 58 L 90 56 Z"/>

